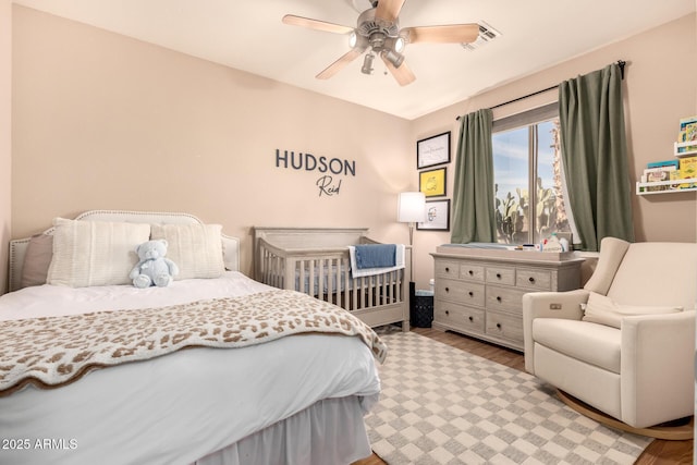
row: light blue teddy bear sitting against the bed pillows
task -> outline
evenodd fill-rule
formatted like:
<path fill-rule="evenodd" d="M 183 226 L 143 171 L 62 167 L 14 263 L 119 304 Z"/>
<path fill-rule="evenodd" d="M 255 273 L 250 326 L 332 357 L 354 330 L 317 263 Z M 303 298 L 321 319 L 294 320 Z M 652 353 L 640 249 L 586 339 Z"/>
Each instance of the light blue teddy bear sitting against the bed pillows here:
<path fill-rule="evenodd" d="M 164 287 L 170 285 L 174 277 L 179 274 L 176 264 L 164 257 L 167 245 L 167 241 L 160 238 L 145 242 L 135 248 L 140 260 L 129 274 L 134 286 L 139 289 L 151 285 Z"/>

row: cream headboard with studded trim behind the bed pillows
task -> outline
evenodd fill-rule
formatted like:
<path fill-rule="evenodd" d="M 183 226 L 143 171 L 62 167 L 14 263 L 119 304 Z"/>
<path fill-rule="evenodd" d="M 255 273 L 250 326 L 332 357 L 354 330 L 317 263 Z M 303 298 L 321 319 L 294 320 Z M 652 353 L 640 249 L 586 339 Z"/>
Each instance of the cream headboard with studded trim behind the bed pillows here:
<path fill-rule="evenodd" d="M 189 224 L 203 221 L 188 213 L 171 213 L 161 211 L 129 211 L 129 210 L 90 210 L 78 215 L 75 220 L 78 221 L 119 221 L 129 223 L 150 223 L 150 224 Z M 54 229 L 49 228 L 44 234 L 53 234 Z M 240 271 L 240 240 L 225 234 L 222 238 L 222 256 L 225 269 L 230 271 Z M 24 266 L 24 256 L 30 237 L 16 238 L 10 241 L 10 270 L 9 270 L 9 287 L 10 291 L 20 289 L 22 279 L 22 267 Z"/>

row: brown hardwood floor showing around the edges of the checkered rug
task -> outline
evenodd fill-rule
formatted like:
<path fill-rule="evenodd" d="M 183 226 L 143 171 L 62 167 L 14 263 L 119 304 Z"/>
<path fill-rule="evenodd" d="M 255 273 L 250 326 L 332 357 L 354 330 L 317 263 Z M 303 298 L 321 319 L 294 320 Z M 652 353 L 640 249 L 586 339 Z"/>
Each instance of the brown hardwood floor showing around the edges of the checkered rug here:
<path fill-rule="evenodd" d="M 473 338 L 468 338 L 462 334 L 457 334 L 450 331 L 439 331 L 431 328 L 413 328 L 412 331 L 425 335 L 427 338 L 435 339 L 444 344 L 460 348 L 462 351 L 469 352 L 480 357 L 488 358 L 492 362 L 505 365 L 521 371 L 525 371 L 525 359 L 523 354 L 511 351 L 504 347 L 500 347 L 494 344 L 489 344 L 482 341 L 478 341 Z M 693 463 L 693 448 L 694 441 L 662 441 L 653 440 L 649 446 L 644 451 L 639 458 L 635 462 L 636 465 L 676 465 L 676 464 L 692 464 Z M 372 454 L 370 457 L 355 462 L 352 465 L 386 465 L 379 456 Z"/>

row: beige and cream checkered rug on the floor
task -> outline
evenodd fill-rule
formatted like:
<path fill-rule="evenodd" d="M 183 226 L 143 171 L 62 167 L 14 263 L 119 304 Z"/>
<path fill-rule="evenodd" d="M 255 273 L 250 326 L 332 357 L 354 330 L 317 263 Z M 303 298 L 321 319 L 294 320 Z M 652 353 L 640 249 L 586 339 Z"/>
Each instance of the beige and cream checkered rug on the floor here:
<path fill-rule="evenodd" d="M 366 417 L 388 464 L 632 464 L 651 442 L 577 414 L 535 377 L 414 332 L 381 332 Z"/>

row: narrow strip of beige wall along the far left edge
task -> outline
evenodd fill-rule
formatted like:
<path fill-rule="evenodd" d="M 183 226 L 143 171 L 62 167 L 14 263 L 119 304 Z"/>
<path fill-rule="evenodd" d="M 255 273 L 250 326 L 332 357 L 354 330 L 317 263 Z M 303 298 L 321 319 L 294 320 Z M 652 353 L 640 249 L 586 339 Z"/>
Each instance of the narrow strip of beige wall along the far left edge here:
<path fill-rule="evenodd" d="M 12 4 L 0 0 L 0 294 L 7 290 L 8 242 L 11 234 L 11 96 Z"/>

